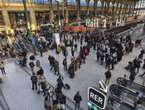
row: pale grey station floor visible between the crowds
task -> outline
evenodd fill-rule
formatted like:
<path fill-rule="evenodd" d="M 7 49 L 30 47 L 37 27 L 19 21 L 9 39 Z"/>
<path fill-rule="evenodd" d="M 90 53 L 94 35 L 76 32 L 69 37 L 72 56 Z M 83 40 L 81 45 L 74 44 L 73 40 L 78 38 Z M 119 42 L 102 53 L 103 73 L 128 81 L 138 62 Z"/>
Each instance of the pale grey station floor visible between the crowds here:
<path fill-rule="evenodd" d="M 115 69 L 111 71 L 112 78 L 110 84 L 115 83 L 116 78 L 123 76 L 124 74 L 129 76 L 129 72 L 126 71 L 124 67 L 127 65 L 128 61 L 131 61 L 138 56 L 140 49 L 141 48 L 139 47 L 134 48 L 133 53 L 125 55 L 123 60 L 115 66 Z M 74 94 L 79 90 L 83 98 L 81 107 L 84 108 L 84 110 L 87 110 L 88 87 L 97 87 L 98 82 L 105 79 L 104 73 L 106 72 L 106 69 L 96 62 L 96 52 L 93 49 L 91 50 L 90 55 L 87 57 L 86 64 L 82 65 L 81 69 L 76 72 L 74 79 L 70 79 L 68 74 L 63 71 L 63 56 L 56 55 L 55 51 L 49 51 L 49 54 L 53 55 L 59 61 L 60 73 L 64 77 L 64 83 L 68 83 L 71 86 L 70 90 L 64 90 L 63 93 L 73 100 Z M 36 59 L 39 59 L 41 62 L 48 82 L 55 86 L 57 76 L 50 71 L 47 58 L 48 53 L 44 53 L 43 57 L 36 57 Z M 70 62 L 70 49 L 68 59 Z M 142 74 L 143 72 L 144 70 L 141 69 L 139 74 Z M 7 60 L 6 73 L 7 76 L 3 77 L 4 82 L 0 85 L 0 88 L 10 110 L 44 110 L 44 98 L 42 95 L 38 95 L 36 92 L 31 90 L 30 75 L 27 72 L 23 71 L 17 64 L 15 64 L 14 60 Z M 135 81 L 142 84 L 143 79 L 139 77 L 139 74 L 136 76 Z"/>

